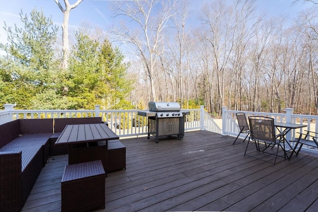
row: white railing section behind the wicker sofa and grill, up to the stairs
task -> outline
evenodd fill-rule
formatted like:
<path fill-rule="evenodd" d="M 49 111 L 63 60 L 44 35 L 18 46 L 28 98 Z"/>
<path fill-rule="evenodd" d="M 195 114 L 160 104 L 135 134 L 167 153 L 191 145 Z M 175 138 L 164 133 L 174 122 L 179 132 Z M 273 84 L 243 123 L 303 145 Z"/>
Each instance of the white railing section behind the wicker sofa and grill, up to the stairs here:
<path fill-rule="evenodd" d="M 189 115 L 184 120 L 185 131 L 209 130 L 221 134 L 221 129 L 215 124 L 212 118 L 200 109 L 186 109 Z M 201 114 L 204 114 L 204 125 L 201 125 Z M 147 135 L 148 119 L 138 115 L 138 110 L 100 110 L 99 105 L 94 110 L 14 110 L 14 105 L 4 105 L 4 111 L 0 111 L 0 124 L 15 119 L 39 119 L 39 118 L 72 118 L 72 117 L 101 117 L 103 122 L 119 136 L 140 136 Z M 216 125 L 216 126 L 213 126 Z M 207 126 L 207 127 L 201 127 Z M 215 130 L 215 131 L 214 131 Z"/>

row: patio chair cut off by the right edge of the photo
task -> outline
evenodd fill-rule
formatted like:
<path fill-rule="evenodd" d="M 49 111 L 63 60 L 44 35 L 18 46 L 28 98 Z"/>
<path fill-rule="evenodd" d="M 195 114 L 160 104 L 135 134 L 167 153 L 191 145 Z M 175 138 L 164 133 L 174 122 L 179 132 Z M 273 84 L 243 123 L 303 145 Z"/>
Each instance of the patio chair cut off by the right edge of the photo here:
<path fill-rule="evenodd" d="M 299 133 L 300 137 L 298 139 L 292 141 L 292 142 L 296 142 L 296 144 L 295 144 L 295 147 L 294 147 L 291 155 L 289 156 L 289 159 L 292 158 L 294 152 L 296 153 L 296 155 L 298 155 L 300 149 L 303 147 L 304 144 L 318 148 L 318 137 L 311 135 L 311 133 L 314 135 L 318 135 L 318 133 L 307 131 L 307 130 L 305 130 L 305 131 L 307 132 L 306 134 Z M 304 136 L 304 138 L 302 138 L 303 136 Z M 310 139 L 308 139 L 308 137 Z M 296 151 L 299 144 L 300 144 L 300 146 L 299 146 L 298 150 Z"/>

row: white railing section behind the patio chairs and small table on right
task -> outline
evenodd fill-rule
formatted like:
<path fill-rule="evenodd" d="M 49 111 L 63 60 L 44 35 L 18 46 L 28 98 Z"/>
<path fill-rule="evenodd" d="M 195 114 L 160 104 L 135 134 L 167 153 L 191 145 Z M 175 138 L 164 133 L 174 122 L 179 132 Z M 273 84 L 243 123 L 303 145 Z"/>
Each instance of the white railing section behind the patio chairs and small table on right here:
<path fill-rule="evenodd" d="M 318 116 L 313 115 L 299 115 L 293 114 L 294 109 L 287 108 L 285 109 L 286 113 L 262 113 L 262 112 L 251 112 L 251 111 L 234 111 L 234 110 L 227 110 L 227 107 L 223 107 L 222 111 L 222 134 L 229 135 L 229 136 L 238 136 L 239 135 L 239 126 L 236 120 L 236 113 L 243 112 L 245 115 L 248 116 L 266 116 L 273 118 L 275 121 L 278 122 L 286 122 L 286 123 L 299 123 L 307 125 L 305 128 L 291 130 L 290 133 L 286 135 L 286 139 L 288 141 L 293 141 L 295 138 L 298 137 L 297 132 L 303 133 L 304 130 L 315 132 L 316 136 L 318 135 Z M 315 135 L 313 135 L 315 136 Z M 241 136 L 243 138 L 244 135 Z M 291 143 L 294 145 L 294 143 Z M 307 148 L 308 150 L 315 150 L 318 151 L 317 148 L 313 148 L 310 146 L 303 146 L 303 148 Z"/>

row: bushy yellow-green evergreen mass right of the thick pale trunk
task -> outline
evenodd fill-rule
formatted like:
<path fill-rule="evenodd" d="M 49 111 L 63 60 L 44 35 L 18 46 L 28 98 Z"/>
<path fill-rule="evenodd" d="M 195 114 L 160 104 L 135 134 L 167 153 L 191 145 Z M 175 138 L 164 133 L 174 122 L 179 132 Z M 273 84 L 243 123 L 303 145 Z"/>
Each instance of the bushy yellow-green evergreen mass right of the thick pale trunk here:
<path fill-rule="evenodd" d="M 108 40 L 100 45 L 81 32 L 76 38 L 64 86 L 73 107 L 90 109 L 99 104 L 107 109 L 131 108 L 125 101 L 131 87 L 124 56 Z"/>

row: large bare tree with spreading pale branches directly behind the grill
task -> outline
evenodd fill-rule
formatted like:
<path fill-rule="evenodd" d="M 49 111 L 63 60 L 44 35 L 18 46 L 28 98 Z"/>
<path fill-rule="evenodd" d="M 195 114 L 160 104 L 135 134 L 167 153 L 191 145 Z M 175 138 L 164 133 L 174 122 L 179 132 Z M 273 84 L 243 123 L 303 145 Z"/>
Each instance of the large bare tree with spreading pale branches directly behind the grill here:
<path fill-rule="evenodd" d="M 116 16 L 124 16 L 126 20 L 128 18 L 129 23 L 123 23 L 121 29 L 113 33 L 116 35 L 116 39 L 129 44 L 132 48 L 132 54 L 143 62 L 151 87 L 150 100 L 156 101 L 155 65 L 159 61 L 164 28 L 172 16 L 175 1 L 131 0 L 116 2 L 114 8 Z"/>

